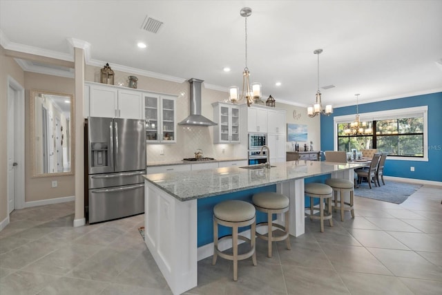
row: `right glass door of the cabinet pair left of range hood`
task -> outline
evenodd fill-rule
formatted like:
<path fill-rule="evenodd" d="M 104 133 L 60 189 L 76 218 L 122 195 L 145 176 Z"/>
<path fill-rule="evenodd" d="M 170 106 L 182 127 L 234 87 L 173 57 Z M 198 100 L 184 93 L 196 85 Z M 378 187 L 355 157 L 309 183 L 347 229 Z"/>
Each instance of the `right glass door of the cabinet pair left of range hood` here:
<path fill-rule="evenodd" d="M 161 96 L 161 142 L 176 142 L 176 107 L 175 97 Z"/>

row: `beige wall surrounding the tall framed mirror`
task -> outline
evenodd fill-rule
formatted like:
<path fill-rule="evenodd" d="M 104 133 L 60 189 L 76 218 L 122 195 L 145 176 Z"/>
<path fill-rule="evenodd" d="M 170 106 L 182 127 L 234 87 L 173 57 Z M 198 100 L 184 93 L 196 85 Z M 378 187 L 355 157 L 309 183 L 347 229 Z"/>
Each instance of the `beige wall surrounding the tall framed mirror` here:
<path fill-rule="evenodd" d="M 25 162 L 30 167 L 30 106 L 29 95 L 32 89 L 57 93 L 74 94 L 74 79 L 55 77 L 37 73 L 25 72 Z M 75 97 L 74 97 L 75 99 Z M 72 165 L 72 163 L 71 163 Z M 52 180 L 57 180 L 58 186 L 52 188 Z M 25 172 L 25 202 L 74 196 L 74 175 L 37 177 L 31 175 L 31 169 Z"/>

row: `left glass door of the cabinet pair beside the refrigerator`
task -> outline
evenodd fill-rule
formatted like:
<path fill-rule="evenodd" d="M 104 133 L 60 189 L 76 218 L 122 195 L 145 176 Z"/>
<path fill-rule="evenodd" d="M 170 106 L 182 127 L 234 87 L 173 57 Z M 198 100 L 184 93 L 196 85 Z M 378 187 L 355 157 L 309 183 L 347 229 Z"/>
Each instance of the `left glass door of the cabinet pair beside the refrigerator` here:
<path fill-rule="evenodd" d="M 144 94 L 144 119 L 146 120 L 146 142 L 160 140 L 160 96 Z"/>

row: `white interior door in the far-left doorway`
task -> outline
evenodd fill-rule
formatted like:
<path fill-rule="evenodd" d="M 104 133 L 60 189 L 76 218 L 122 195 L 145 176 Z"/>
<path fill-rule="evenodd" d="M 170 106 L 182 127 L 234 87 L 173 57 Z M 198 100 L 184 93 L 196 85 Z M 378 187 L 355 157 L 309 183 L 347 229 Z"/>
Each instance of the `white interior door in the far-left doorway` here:
<path fill-rule="evenodd" d="M 15 99 L 14 89 L 8 89 L 8 213 L 15 209 Z"/>

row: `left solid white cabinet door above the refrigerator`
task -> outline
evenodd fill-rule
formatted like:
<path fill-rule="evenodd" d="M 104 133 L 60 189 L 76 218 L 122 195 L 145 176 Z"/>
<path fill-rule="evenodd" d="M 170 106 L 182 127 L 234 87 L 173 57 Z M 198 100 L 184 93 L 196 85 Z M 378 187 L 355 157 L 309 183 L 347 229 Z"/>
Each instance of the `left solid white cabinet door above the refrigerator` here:
<path fill-rule="evenodd" d="M 90 85 L 90 117 L 117 117 L 118 91 L 109 86 Z"/>

